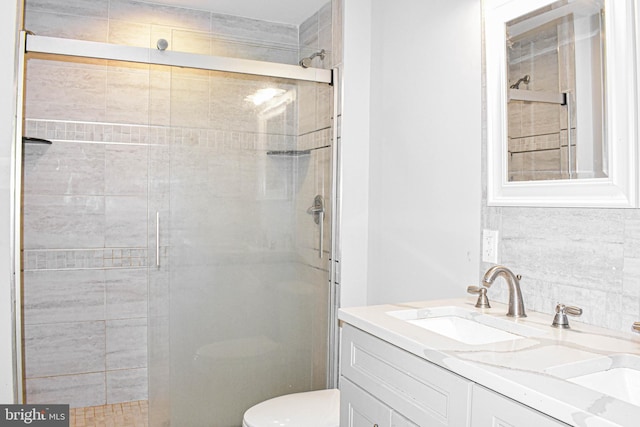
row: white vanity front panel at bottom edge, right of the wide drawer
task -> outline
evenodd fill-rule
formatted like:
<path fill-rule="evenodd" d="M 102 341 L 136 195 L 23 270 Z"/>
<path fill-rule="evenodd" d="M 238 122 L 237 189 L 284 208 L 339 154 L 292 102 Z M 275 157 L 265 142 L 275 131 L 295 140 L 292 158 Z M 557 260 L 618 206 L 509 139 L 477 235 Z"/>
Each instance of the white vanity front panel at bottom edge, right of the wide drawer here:
<path fill-rule="evenodd" d="M 471 427 L 566 427 L 528 406 L 474 384 L 471 398 Z"/>

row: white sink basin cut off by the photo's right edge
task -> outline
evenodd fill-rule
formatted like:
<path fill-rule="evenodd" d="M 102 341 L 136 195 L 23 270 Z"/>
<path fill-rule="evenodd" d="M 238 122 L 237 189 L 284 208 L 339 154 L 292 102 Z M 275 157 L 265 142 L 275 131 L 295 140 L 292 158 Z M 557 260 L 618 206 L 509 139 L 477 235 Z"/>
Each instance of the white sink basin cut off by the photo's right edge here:
<path fill-rule="evenodd" d="M 638 370 L 613 368 L 569 378 L 567 381 L 640 406 L 640 371 Z"/>

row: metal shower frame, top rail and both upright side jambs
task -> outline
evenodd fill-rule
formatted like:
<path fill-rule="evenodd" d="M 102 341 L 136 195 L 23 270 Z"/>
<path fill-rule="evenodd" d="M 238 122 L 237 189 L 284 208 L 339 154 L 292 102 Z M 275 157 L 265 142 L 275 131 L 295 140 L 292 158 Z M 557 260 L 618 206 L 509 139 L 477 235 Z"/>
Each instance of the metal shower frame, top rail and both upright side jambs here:
<path fill-rule="evenodd" d="M 339 112 L 339 72 L 338 68 L 303 68 L 299 65 L 254 61 L 247 59 L 198 55 L 185 52 L 160 51 L 149 48 L 115 45 L 110 43 L 89 42 L 83 40 L 64 39 L 57 37 L 36 36 L 21 31 L 19 35 L 18 58 L 18 96 L 14 150 L 12 153 L 13 167 L 13 256 L 14 256 L 14 304 L 15 304 L 15 353 L 16 353 L 16 403 L 25 401 L 24 355 L 22 351 L 22 137 L 24 89 L 26 78 L 26 54 L 42 53 L 51 55 L 75 56 L 94 59 L 107 59 L 124 62 L 136 62 L 153 65 L 167 65 L 187 68 L 197 68 L 210 71 L 223 71 L 239 74 L 250 74 L 264 77 L 278 77 L 298 81 L 325 83 L 333 87 L 333 146 L 332 146 L 332 218 L 331 218 L 331 262 L 329 264 L 329 330 L 327 336 L 327 387 L 337 387 L 338 374 L 338 322 L 337 311 L 340 306 L 339 295 L 339 261 L 336 258 L 339 245 L 339 158 L 338 158 L 338 112 Z"/>

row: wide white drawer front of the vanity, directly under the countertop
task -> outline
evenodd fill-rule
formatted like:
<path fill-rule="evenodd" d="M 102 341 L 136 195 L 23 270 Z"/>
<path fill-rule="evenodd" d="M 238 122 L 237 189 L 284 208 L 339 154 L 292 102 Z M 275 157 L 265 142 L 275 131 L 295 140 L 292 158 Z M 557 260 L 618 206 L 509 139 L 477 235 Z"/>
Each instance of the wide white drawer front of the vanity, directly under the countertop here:
<path fill-rule="evenodd" d="M 421 426 L 463 426 L 472 383 L 345 324 L 342 375 Z"/>

